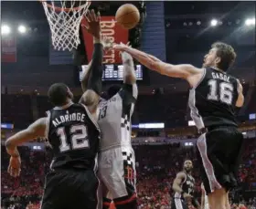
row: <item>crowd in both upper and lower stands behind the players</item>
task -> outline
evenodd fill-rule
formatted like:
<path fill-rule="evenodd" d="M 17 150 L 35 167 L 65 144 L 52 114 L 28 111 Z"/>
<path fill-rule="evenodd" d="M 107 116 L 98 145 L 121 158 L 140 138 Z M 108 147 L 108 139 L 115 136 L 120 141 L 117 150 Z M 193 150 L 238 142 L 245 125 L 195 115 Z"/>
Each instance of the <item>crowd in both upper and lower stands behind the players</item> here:
<path fill-rule="evenodd" d="M 249 92 L 249 86 L 245 91 Z M 139 95 L 134 110 L 133 120 L 139 122 L 165 122 L 165 126 L 184 126 L 187 121 L 187 92 L 165 95 L 155 92 L 152 95 Z M 24 129 L 38 117 L 44 117 L 45 111 L 52 108 L 46 96 L 2 94 L 2 122 L 15 124 L 15 128 Z M 78 100 L 78 98 L 76 99 Z M 168 105 L 166 105 L 168 104 Z M 256 90 L 251 93 L 251 101 L 246 113 L 255 113 Z M 148 114 L 150 112 L 150 114 Z M 168 113 L 168 114 L 166 114 Z M 163 120 L 165 119 L 165 120 Z M 187 125 L 187 124 L 186 124 Z M 2 132 L 1 132 L 2 133 Z M 7 134 L 7 133 L 6 133 Z M 11 133 L 13 134 L 13 133 Z M 159 131 L 139 131 L 138 136 L 156 137 Z M 7 138 L 8 135 L 2 138 Z M 180 136 L 180 139 L 187 139 Z M 43 139 L 37 139 L 41 142 Z M 180 143 L 163 145 L 133 146 L 136 155 L 137 190 L 140 209 L 170 208 L 171 185 L 176 172 L 182 169 L 185 159 L 194 163 L 193 175 L 196 178 L 196 196 L 200 198 L 200 178 L 197 171 L 197 157 L 194 147 L 182 147 Z M 1 146 L 1 205 L 9 209 L 37 209 L 43 194 L 44 175 L 48 172 L 50 155 L 40 150 L 20 147 L 22 172 L 12 178 L 7 172 L 9 157 L 5 147 Z M 256 190 L 256 140 L 247 139 L 240 164 L 240 186 L 242 191 Z M 256 196 L 256 194 L 254 194 Z M 245 208 L 255 209 L 256 200 L 244 197 Z M 240 198 L 233 198 L 234 203 L 243 203 Z M 253 206 L 254 205 L 254 208 Z M 235 208 L 235 207 L 233 207 Z M 240 206 L 240 209 L 243 208 Z M 236 208 L 237 209 L 237 208 Z"/>

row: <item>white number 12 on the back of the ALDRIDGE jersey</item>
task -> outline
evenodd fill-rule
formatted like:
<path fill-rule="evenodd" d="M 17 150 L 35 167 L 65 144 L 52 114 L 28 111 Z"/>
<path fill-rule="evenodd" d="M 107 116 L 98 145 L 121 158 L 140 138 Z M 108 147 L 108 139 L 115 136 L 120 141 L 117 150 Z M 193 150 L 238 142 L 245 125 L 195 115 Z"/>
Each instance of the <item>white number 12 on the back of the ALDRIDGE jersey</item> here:
<path fill-rule="evenodd" d="M 60 127 L 57 130 L 57 134 L 60 138 L 60 152 L 67 152 L 70 150 L 70 144 L 67 141 L 67 134 L 64 127 Z M 87 127 L 85 125 L 73 125 L 69 130 L 70 141 L 72 150 L 89 148 L 90 144 L 88 141 Z"/>

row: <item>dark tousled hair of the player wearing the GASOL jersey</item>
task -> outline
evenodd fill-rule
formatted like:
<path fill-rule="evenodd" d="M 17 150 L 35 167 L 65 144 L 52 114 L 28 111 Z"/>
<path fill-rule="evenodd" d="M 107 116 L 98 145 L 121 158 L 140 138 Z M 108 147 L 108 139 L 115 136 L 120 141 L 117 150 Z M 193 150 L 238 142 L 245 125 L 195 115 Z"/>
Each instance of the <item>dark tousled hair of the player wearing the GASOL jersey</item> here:
<path fill-rule="evenodd" d="M 227 71 L 235 62 L 237 54 L 233 47 L 223 42 L 215 42 L 211 47 L 217 48 L 217 56 L 221 58 L 218 68 Z"/>

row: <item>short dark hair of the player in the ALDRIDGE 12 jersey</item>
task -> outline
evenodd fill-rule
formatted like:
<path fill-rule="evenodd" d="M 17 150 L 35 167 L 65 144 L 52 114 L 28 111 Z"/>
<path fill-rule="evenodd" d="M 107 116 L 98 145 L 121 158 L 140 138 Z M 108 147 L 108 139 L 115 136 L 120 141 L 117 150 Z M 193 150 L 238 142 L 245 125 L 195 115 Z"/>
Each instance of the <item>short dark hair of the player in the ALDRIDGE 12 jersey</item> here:
<path fill-rule="evenodd" d="M 64 83 L 55 83 L 48 89 L 48 99 L 54 106 L 63 106 L 67 102 L 68 86 Z"/>

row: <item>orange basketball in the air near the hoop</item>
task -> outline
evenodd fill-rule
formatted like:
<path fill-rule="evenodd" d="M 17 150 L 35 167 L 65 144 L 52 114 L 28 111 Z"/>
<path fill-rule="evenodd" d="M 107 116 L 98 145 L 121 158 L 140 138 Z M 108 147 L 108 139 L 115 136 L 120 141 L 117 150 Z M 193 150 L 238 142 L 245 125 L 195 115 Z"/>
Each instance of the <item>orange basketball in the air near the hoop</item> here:
<path fill-rule="evenodd" d="M 115 20 L 125 29 L 132 29 L 140 21 L 140 12 L 135 5 L 125 4 L 116 11 Z"/>

